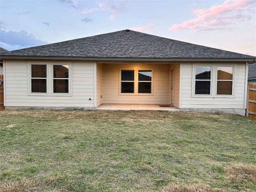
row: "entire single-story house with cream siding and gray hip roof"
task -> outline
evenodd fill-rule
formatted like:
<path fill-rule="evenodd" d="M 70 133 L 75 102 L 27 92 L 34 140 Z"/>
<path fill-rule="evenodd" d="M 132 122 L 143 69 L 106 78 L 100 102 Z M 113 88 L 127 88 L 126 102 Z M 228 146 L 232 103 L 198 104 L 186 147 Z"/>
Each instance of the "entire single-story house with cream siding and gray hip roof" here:
<path fill-rule="evenodd" d="M 132 30 L 1 54 L 4 106 L 172 105 L 245 115 L 255 57 Z"/>

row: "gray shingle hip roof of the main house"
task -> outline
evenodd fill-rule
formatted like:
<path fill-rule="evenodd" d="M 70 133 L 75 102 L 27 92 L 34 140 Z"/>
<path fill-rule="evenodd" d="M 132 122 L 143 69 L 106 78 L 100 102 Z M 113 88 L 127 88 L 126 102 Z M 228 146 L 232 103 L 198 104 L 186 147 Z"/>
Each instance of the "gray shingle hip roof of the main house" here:
<path fill-rule="evenodd" d="M 9 51 L 2 56 L 80 58 L 255 58 L 132 30 Z"/>

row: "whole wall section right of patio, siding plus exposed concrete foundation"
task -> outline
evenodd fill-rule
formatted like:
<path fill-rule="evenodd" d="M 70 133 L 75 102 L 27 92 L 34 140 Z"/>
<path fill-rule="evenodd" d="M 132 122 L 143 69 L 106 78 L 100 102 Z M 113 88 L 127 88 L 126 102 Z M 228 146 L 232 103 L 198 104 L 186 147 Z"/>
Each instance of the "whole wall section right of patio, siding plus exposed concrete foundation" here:
<path fill-rule="evenodd" d="M 209 64 L 209 63 L 208 63 Z M 215 62 L 216 65 L 218 63 Z M 223 62 L 220 64 L 224 64 Z M 245 80 L 246 65 L 245 63 L 227 63 L 235 66 L 234 70 L 234 95 L 233 96 L 193 96 L 193 64 L 181 64 L 181 94 L 180 110 L 181 111 L 223 111 L 234 112 L 236 114 L 245 114 Z M 212 86 L 215 88 L 216 80 L 212 80 Z M 226 110 L 226 111 L 225 111 Z"/>

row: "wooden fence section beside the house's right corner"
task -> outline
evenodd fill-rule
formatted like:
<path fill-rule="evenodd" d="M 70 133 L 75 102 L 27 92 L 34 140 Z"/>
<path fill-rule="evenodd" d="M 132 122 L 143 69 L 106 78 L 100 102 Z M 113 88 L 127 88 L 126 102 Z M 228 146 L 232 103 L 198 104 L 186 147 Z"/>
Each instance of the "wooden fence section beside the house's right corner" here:
<path fill-rule="evenodd" d="M 246 117 L 256 119 L 256 84 L 247 85 Z"/>

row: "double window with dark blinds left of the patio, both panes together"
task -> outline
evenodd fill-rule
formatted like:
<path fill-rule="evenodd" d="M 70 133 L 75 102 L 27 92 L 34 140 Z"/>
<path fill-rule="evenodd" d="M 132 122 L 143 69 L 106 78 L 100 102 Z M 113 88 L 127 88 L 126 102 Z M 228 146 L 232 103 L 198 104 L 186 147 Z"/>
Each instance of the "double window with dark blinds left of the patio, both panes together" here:
<path fill-rule="evenodd" d="M 70 67 L 64 64 L 53 63 L 28 63 L 30 89 L 28 94 L 70 94 Z M 71 95 L 71 94 L 70 94 Z"/>

